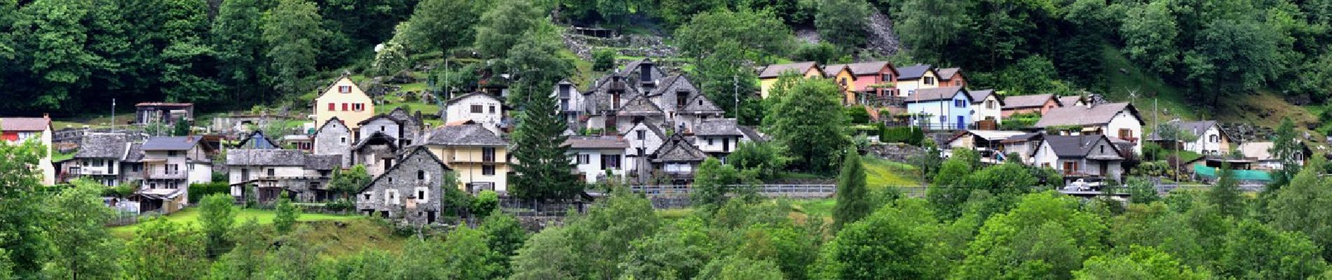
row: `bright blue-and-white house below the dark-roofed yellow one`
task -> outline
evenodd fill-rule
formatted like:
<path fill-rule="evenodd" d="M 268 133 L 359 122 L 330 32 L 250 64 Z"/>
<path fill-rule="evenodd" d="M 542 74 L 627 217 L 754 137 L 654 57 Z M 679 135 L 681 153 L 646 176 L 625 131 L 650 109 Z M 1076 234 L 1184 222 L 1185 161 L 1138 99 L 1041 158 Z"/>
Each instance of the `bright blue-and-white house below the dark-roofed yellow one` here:
<path fill-rule="evenodd" d="M 906 98 L 911 123 L 927 129 L 967 129 L 974 98 L 962 86 L 916 89 Z"/>

